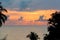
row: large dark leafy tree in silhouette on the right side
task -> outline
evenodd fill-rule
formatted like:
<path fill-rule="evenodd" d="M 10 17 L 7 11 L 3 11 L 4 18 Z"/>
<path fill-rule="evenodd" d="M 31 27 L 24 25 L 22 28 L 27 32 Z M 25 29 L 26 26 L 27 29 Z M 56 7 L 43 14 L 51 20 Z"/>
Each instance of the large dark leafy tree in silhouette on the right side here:
<path fill-rule="evenodd" d="M 60 12 L 55 12 L 48 20 L 48 32 L 44 37 L 44 40 L 60 40 Z"/>

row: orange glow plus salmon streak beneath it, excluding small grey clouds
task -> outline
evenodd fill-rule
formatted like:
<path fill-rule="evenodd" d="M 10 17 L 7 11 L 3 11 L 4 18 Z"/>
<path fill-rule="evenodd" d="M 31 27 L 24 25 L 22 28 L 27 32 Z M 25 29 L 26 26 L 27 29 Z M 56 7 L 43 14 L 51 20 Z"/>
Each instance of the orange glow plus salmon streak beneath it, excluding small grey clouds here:
<path fill-rule="evenodd" d="M 14 11 L 8 10 L 6 15 L 10 15 L 10 20 L 18 20 L 21 16 L 23 17 L 22 22 L 17 22 L 17 24 L 44 24 L 41 22 L 34 22 L 34 20 L 38 20 L 39 16 L 44 15 L 44 19 L 50 18 L 50 14 L 54 13 L 57 10 L 36 10 L 36 11 Z M 16 22 L 16 21 L 15 21 Z"/>

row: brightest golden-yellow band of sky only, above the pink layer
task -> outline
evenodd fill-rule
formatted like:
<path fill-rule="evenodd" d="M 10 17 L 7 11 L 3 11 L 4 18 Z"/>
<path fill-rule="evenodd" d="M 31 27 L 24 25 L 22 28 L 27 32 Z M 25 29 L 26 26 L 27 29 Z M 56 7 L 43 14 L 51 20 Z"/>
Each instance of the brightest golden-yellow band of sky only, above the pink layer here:
<path fill-rule="evenodd" d="M 50 14 L 54 13 L 56 10 L 37 10 L 37 11 L 14 11 L 8 10 L 7 15 L 10 15 L 10 19 L 18 19 L 23 17 L 24 20 L 37 20 L 39 16 L 44 15 L 44 19 L 50 18 Z"/>

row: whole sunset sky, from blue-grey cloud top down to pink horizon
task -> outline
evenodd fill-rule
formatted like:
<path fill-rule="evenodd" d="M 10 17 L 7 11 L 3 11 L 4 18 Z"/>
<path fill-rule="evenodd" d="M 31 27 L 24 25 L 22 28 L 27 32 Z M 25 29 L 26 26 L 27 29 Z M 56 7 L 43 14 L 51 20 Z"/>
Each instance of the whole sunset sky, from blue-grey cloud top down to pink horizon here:
<path fill-rule="evenodd" d="M 37 21 L 40 16 L 44 20 L 60 10 L 60 0 L 0 0 L 8 16 L 6 25 L 42 25 L 46 21 Z"/>

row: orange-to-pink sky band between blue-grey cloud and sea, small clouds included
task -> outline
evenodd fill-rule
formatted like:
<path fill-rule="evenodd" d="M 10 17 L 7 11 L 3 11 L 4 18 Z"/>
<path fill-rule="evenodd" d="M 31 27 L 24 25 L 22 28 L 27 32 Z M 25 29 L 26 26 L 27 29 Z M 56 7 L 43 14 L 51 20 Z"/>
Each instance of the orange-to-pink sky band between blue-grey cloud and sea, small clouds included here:
<path fill-rule="evenodd" d="M 15 11 L 8 10 L 5 25 L 47 25 L 50 14 L 56 10 Z M 42 18 L 41 18 L 42 17 Z"/>

